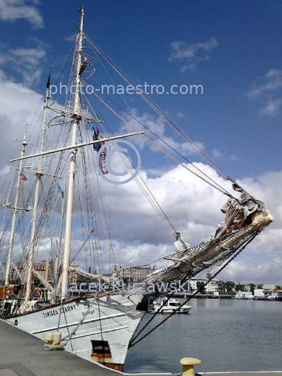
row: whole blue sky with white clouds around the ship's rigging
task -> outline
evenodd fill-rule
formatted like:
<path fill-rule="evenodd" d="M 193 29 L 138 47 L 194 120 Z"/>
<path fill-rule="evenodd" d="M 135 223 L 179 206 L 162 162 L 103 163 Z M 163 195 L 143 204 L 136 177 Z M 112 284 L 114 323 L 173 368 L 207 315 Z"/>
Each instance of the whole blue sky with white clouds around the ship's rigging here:
<path fill-rule="evenodd" d="M 77 33 L 78 6 L 85 9 L 86 35 L 132 81 L 148 84 L 150 100 L 274 215 L 274 223 L 218 278 L 281 285 L 282 3 L 0 0 L 3 178 L 12 171 L 8 160 L 19 152 L 13 139 L 22 139 L 26 124 L 36 124 L 49 65 L 52 84 L 67 79 L 68 69 L 61 70 Z M 111 79 L 121 84 L 108 73 L 99 62 L 89 82 L 97 88 L 111 84 Z M 164 93 L 156 93 L 151 85 L 164 87 Z M 202 90 L 191 93 L 190 85 L 201 85 Z M 172 86 L 177 93 L 171 93 Z M 173 135 L 138 95 L 125 93 L 125 102 L 119 95 L 113 98 L 231 191 L 230 182 Z M 54 100 L 59 102 L 58 96 Z M 107 122 L 116 132 L 132 132 L 111 114 Z M 173 226 L 191 245 L 209 237 L 224 221 L 220 208 L 226 196 L 143 141 L 134 143 L 141 153 L 143 180 Z M 111 195 L 116 200 L 111 205 L 111 239 L 117 263 L 144 265 L 173 253 L 173 236 L 155 220 L 134 182 L 112 187 L 111 193 L 106 182 L 101 185 L 106 201 Z"/>

